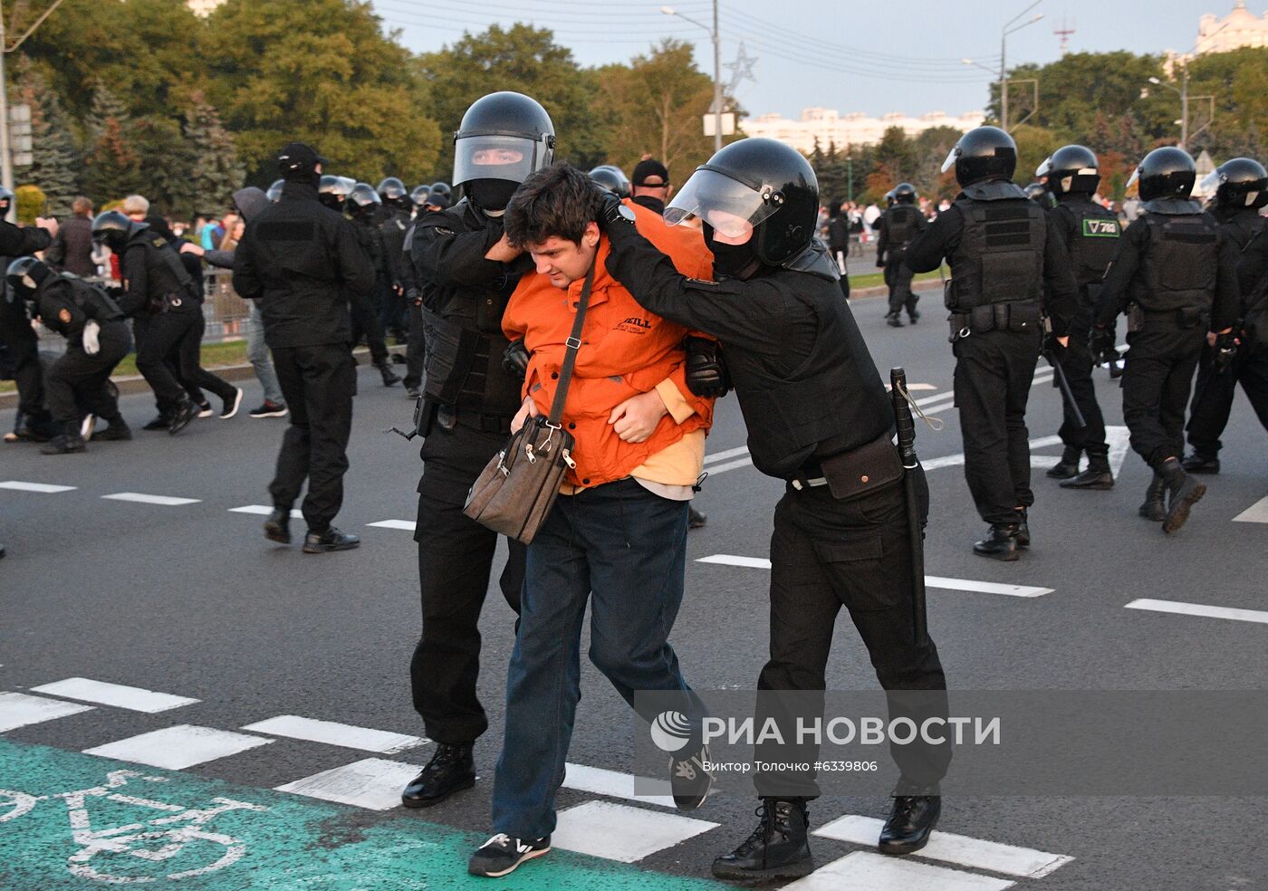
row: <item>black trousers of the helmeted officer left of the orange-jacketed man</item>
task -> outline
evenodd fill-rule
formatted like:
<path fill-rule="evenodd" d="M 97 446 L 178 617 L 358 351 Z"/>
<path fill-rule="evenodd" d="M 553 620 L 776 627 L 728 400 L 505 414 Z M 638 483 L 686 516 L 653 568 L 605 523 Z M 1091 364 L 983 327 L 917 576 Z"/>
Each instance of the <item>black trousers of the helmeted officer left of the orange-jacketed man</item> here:
<path fill-rule="evenodd" d="M 477 418 L 479 416 L 476 416 Z M 506 435 L 432 423 L 422 444 L 418 480 L 418 587 L 422 635 L 410 662 L 413 707 L 437 743 L 470 743 L 488 728 L 476 695 L 479 674 L 479 613 L 497 549 L 497 532 L 463 513 L 467 492 Z M 498 580 L 502 597 L 520 612 L 526 548 L 507 539 L 510 553 Z"/>

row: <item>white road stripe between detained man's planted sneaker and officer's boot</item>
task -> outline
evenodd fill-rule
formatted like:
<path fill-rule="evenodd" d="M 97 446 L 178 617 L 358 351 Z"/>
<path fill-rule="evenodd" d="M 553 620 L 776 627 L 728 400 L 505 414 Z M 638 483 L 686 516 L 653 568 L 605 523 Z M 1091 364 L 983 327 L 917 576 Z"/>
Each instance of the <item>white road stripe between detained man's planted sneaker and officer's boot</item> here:
<path fill-rule="evenodd" d="M 559 812 L 550 845 L 620 863 L 637 863 L 718 825 L 611 801 L 587 801 Z"/>

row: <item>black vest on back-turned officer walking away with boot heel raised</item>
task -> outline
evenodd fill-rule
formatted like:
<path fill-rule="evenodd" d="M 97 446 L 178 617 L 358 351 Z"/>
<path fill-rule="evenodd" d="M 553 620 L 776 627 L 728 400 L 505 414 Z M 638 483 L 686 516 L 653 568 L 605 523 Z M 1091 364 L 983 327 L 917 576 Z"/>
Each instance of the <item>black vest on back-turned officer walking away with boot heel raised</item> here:
<path fill-rule="evenodd" d="M 1149 242 L 1137 303 L 1154 313 L 1210 311 L 1220 264 L 1219 223 L 1197 202 L 1154 200 L 1142 209 Z"/>

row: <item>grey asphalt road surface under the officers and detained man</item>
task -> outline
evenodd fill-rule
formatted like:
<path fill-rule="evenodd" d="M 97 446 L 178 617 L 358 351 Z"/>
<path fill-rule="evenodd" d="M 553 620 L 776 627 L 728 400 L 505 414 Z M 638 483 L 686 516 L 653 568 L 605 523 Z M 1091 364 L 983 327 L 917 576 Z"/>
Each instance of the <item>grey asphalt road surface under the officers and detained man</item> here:
<path fill-rule="evenodd" d="M 914 393 L 921 399 L 951 389 L 952 359 L 936 303 L 936 293 L 927 293 L 924 318 L 903 330 L 885 327 L 883 300 L 855 303 L 877 368 L 886 374 L 891 365 L 904 365 L 913 384 L 931 388 Z M 254 381 L 246 387 L 243 408 L 259 402 Z M 1103 371 L 1097 387 L 1107 421 L 1121 426 L 1117 388 Z M 278 715 L 421 736 L 407 672 L 418 629 L 415 544 L 410 531 L 370 526 L 415 517 L 416 445 L 384 432 L 408 421 L 412 403 L 399 387 L 384 389 L 366 366 L 360 369 L 360 390 L 346 499 L 336 522 L 361 535 L 363 545 L 345 554 L 309 556 L 298 545 L 275 546 L 262 539 L 260 516 L 231 512 L 268 504 L 266 484 L 285 421 L 251 420 L 243 412 L 227 422 L 195 421 L 178 437 L 142 433 L 152 404 L 133 395 L 123 401 L 124 414 L 137 428 L 133 442 L 91 444 L 84 455 L 57 458 L 42 456 L 30 445 L 0 447 L 0 483 L 75 487 L 56 493 L 0 488 L 0 541 L 9 550 L 0 561 L 0 691 L 27 692 L 82 677 L 198 700 L 156 714 L 96 707 L 16 728 L 4 739 L 80 752 L 176 724 L 236 730 Z M 945 428 L 931 432 L 919 426 L 918 449 L 927 463 L 961 451 L 954 409 L 947 401 L 932 404 Z M 11 426 L 11 414 L 0 412 L 0 427 Z M 1055 433 L 1060 399 L 1050 385 L 1032 389 L 1028 421 L 1032 440 Z M 1224 437 L 1222 473 L 1210 478 L 1207 497 L 1170 537 L 1136 516 L 1150 474 L 1135 455 L 1126 455 L 1118 484 L 1110 492 L 1063 490 L 1036 469 L 1033 545 L 1013 564 L 970 553 L 984 525 L 973 511 L 962 469 L 954 461 L 931 468 L 928 573 L 1052 589 L 1040 597 L 931 589 L 931 634 L 951 686 L 1263 691 L 1268 630 L 1262 621 L 1125 605 L 1155 598 L 1268 610 L 1268 523 L 1234 522 L 1268 496 L 1264 440 L 1239 393 Z M 743 444 L 742 420 L 730 398 L 719 407 L 709 452 Z M 1055 463 L 1060 447 L 1035 451 Z M 709 523 L 689 539 L 687 596 L 673 632 L 683 670 L 700 689 L 752 688 L 766 650 L 767 573 L 696 561 L 718 554 L 768 555 L 771 510 L 781 484 L 752 466 L 718 471 L 730 463 L 713 463 L 715 471 L 699 497 Z M 166 506 L 103 498 L 122 492 L 198 501 Z M 1268 520 L 1265 507 L 1260 513 Z M 295 523 L 302 529 L 302 521 Z M 477 747 L 481 782 L 421 815 L 368 810 L 359 825 L 425 819 L 487 833 L 503 667 L 512 644 L 511 616 L 496 592 L 482 631 L 481 692 L 492 726 Z M 838 689 L 875 687 L 866 651 L 848 621 L 837 624 L 828 681 Z M 185 773 L 268 790 L 368 757 L 323 743 L 275 739 Z M 583 665 L 569 762 L 628 772 L 630 749 L 625 703 Z M 429 752 L 430 745 L 370 757 L 421 764 Z M 1194 759 L 1202 755 L 1192 753 Z M 9 787 L 15 782 L 11 776 L 0 778 Z M 596 800 L 630 804 L 573 788 L 562 790 L 558 804 L 563 810 Z M 752 829 L 754 804 L 747 793 L 718 795 L 692 816 L 720 825 L 662 847 L 637 866 L 681 876 L 683 886 L 687 877 L 708 877 L 713 857 Z M 946 833 L 1073 859 L 1040 877 L 1000 877 L 973 863 L 926 859 L 922 863 L 935 872 L 909 876 L 902 887 L 961 887 L 947 883 L 950 875 L 967 882 L 962 887 L 970 891 L 1007 887 L 1002 883 L 1007 881 L 1025 891 L 1263 888 L 1268 854 L 1254 840 L 1262 807 L 1262 798 L 1216 796 L 947 798 L 940 824 Z M 833 792 L 812 804 L 815 826 L 848 814 L 884 817 L 886 812 L 888 801 L 880 796 Z M 0 831 L 4 859 L 23 857 L 28 845 L 38 848 L 22 834 L 22 825 L 15 821 L 10 831 Z M 812 847 L 819 864 L 866 849 L 823 838 Z M 533 869 L 530 864 L 516 876 L 531 878 Z M 399 887 L 446 887 L 458 881 L 418 859 L 402 859 L 399 876 Z M 217 881 L 207 887 L 247 886 L 236 883 L 245 880 L 230 869 Z M 899 880 L 832 883 L 824 875 L 823 883 L 813 887 L 891 887 L 885 881 Z M 372 886 L 391 883 L 365 885 Z M 515 880 L 506 886 L 524 887 Z"/>

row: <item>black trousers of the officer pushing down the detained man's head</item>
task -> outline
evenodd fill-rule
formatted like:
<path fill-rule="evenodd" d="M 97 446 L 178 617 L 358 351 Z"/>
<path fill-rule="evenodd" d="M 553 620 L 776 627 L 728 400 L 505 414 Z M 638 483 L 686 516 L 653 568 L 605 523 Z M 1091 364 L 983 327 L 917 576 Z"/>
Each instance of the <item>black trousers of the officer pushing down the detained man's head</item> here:
<path fill-rule="evenodd" d="M 926 501 L 922 512 L 927 510 Z M 946 677 L 933 641 L 915 644 L 912 591 L 912 545 L 902 482 L 848 501 L 833 498 L 827 485 L 798 490 L 790 484 L 775 508 L 771 658 L 757 679 L 757 689 L 804 692 L 760 695 L 756 726 L 773 717 L 782 738 L 796 740 L 796 719 L 805 726 L 823 715 L 833 625 L 842 606 L 867 648 L 883 688 L 933 691 L 888 697 L 890 719 L 905 715 L 921 726 L 927 717 L 946 717 Z M 900 788 L 905 787 L 907 793 L 936 793 L 931 790 L 946 774 L 950 745 L 891 745 L 890 752 L 902 772 Z M 762 762 L 814 764 L 818 747 L 763 744 L 757 747 L 756 757 Z M 813 772 L 757 773 L 754 785 L 763 797 L 810 798 L 819 793 Z"/>

